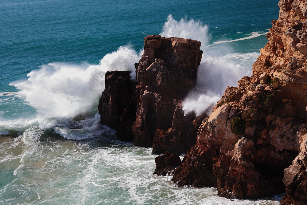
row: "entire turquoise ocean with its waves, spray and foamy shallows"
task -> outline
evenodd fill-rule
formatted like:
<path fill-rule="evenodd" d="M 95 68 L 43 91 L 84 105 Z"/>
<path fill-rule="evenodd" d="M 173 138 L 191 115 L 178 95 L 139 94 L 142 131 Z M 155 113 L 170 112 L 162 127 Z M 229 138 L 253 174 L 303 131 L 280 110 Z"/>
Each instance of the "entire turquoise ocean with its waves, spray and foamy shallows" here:
<path fill-rule="evenodd" d="M 230 200 L 214 187 L 176 187 L 152 175 L 151 148 L 116 140 L 97 113 L 105 73 L 135 71 L 151 34 L 201 41 L 184 109 L 210 110 L 251 75 L 277 4 L 1 0 L 0 204 L 279 204 L 282 195 Z"/>

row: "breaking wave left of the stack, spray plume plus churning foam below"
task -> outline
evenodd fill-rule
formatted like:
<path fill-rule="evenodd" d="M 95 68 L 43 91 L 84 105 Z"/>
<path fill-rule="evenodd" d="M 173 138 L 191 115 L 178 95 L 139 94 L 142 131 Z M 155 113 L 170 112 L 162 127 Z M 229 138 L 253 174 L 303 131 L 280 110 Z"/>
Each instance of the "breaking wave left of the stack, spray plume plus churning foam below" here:
<path fill-rule="evenodd" d="M 53 129 L 60 136 L 83 140 L 114 130 L 100 124 L 98 100 L 104 90 L 105 73 L 112 70 L 131 70 L 140 56 L 130 46 L 120 46 L 105 55 L 98 65 L 49 63 L 28 73 L 28 79 L 10 83 L 20 91 L 0 93 L 16 96 L 37 110 L 27 119 L 1 121 L 0 134 L 20 135 L 32 126 Z"/>

